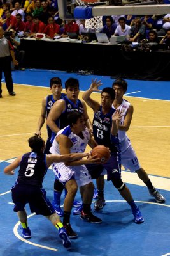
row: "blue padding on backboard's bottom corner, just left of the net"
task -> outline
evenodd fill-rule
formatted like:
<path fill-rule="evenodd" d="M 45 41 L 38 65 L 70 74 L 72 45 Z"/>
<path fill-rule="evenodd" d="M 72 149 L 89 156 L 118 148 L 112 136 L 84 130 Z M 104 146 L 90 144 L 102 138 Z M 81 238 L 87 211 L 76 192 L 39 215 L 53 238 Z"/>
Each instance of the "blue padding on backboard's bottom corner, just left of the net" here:
<path fill-rule="evenodd" d="M 92 17 L 92 6 L 76 6 L 74 9 L 75 19 L 90 19 Z"/>

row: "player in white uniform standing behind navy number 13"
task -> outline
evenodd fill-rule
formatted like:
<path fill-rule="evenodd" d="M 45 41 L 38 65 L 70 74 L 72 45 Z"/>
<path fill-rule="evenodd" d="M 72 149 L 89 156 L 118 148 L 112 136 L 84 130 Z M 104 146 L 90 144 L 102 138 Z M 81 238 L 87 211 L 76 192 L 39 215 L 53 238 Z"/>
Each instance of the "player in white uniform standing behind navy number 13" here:
<path fill-rule="evenodd" d="M 123 99 L 125 92 L 127 91 L 127 82 L 124 79 L 116 79 L 112 85 L 115 90 L 115 100 L 113 101 L 113 108 L 120 109 L 124 115 L 122 116 L 118 127 L 118 138 L 120 140 L 121 147 L 121 163 L 125 170 L 136 172 L 139 179 L 141 179 L 149 189 L 150 195 L 155 197 L 155 200 L 159 203 L 164 203 L 165 198 L 157 189 L 155 189 L 150 181 L 148 174 L 141 167 L 136 156 L 136 152 L 132 148 L 131 141 L 129 140 L 126 132 L 131 125 L 132 115 L 134 108 L 130 102 Z"/>

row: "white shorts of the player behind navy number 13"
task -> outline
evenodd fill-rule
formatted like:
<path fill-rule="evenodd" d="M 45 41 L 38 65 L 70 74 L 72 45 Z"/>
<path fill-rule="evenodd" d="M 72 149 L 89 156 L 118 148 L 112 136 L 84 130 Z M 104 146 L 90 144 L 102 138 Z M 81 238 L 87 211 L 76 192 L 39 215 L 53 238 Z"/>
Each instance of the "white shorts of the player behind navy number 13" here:
<path fill-rule="evenodd" d="M 136 172 L 141 168 L 139 164 L 138 157 L 136 156 L 136 152 L 132 148 L 132 145 L 121 154 L 121 163 L 124 166 L 125 170 L 130 170 L 131 172 Z"/>

